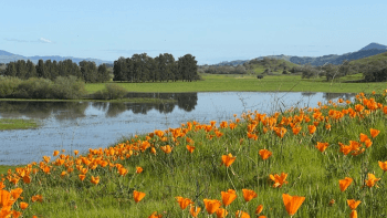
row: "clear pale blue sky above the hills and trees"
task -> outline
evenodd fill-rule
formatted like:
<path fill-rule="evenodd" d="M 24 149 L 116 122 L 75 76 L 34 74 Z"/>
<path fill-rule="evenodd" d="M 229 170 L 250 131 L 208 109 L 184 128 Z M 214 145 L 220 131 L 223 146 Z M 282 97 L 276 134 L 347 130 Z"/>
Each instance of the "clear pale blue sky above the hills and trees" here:
<path fill-rule="evenodd" d="M 0 0 L 0 50 L 115 61 L 135 53 L 198 64 L 321 56 L 387 45 L 386 0 Z"/>

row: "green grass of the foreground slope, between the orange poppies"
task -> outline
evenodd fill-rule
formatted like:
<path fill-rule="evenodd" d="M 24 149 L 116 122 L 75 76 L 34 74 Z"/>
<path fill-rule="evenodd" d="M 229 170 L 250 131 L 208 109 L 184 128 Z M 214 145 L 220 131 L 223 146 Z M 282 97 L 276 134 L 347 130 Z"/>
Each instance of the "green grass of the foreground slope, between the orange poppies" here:
<path fill-rule="evenodd" d="M 383 98 L 380 101 L 386 103 Z M 347 106 L 354 108 L 355 105 Z M 177 196 L 182 196 L 201 207 L 199 217 L 203 218 L 211 217 L 207 216 L 203 199 L 221 199 L 221 191 L 234 189 L 238 197 L 227 207 L 230 212 L 228 217 L 234 217 L 237 210 L 247 211 L 254 217 L 254 210 L 261 204 L 264 207 L 262 214 L 266 217 L 289 217 L 282 201 L 282 194 L 285 193 L 306 198 L 294 217 L 348 217 L 351 209 L 347 199 L 362 200 L 357 208 L 359 217 L 386 217 L 387 177 L 379 168 L 378 160 L 387 159 L 387 134 L 384 131 L 387 128 L 387 106 L 386 112 L 378 108 L 368 115 L 362 112 L 355 118 L 346 114 L 336 120 L 334 114 L 342 113 L 347 106 L 341 104 L 339 107 L 321 107 L 318 112 L 324 118 L 318 118 L 317 111 L 304 110 L 304 120 L 297 124 L 302 131 L 297 135 L 293 135 L 291 126 L 284 121 L 289 117 L 295 121 L 295 115 L 300 115 L 299 110 L 271 116 L 275 121 L 274 127 L 286 128 L 282 138 L 270 131 L 266 123 L 269 120 L 259 118 L 260 115 L 251 113 L 242 115 L 242 122 L 234 129 L 221 128 L 217 124 L 217 127 L 206 132 L 199 127 L 200 124 L 192 128 L 185 125 L 176 129 L 181 134 L 176 132 L 179 136 L 175 139 L 171 137 L 174 129 L 170 129 L 160 132 L 165 134 L 165 139 L 150 134 L 140 135 L 114 147 L 101 148 L 102 153 L 97 148 L 91 149 L 83 154 L 83 160 L 80 156 L 76 157 L 79 163 L 73 155 L 63 155 L 62 159 L 66 160 L 60 165 L 55 164 L 60 159 L 55 157 L 48 164 L 51 167 L 50 174 L 39 169 L 39 165 L 45 167 L 41 163 L 31 166 L 39 170 L 38 174 L 31 173 L 31 184 L 19 181 L 18 187 L 23 188 L 24 201 L 30 204 L 23 214 L 27 217 L 148 217 L 153 211 L 158 211 L 164 217 L 189 217 L 188 209 L 181 210 L 176 201 Z M 305 116 L 311 121 L 305 121 Z M 247 137 L 248 124 L 255 121 L 258 141 Z M 315 121 L 321 122 L 316 124 L 316 132 L 310 134 L 307 126 Z M 325 128 L 326 122 L 332 124 L 331 129 Z M 266 133 L 265 128 L 269 128 Z M 372 138 L 370 128 L 379 129 L 379 135 Z M 215 136 L 218 131 L 223 135 Z M 348 145 L 349 141 L 358 142 L 360 133 L 367 134 L 373 145 L 358 156 L 343 155 L 339 143 Z M 209 136 L 213 137 L 209 139 Z M 194 141 L 196 149 L 192 154 L 186 148 L 187 138 Z M 145 142 L 156 148 L 156 154 L 150 153 L 151 148 Z M 326 142 L 330 146 L 321 153 L 315 147 L 317 142 Z M 172 146 L 171 153 L 166 154 L 160 149 L 166 145 Z M 142 146 L 145 146 L 143 150 Z M 266 160 L 259 156 L 259 150 L 263 148 L 273 153 Z M 234 163 L 230 167 L 221 166 L 222 155 L 230 153 L 236 156 Z M 92 164 L 87 159 L 95 163 L 109 160 L 112 165 L 88 169 L 85 180 L 81 181 L 80 167 L 75 165 L 91 168 Z M 128 169 L 128 174 L 121 176 L 116 164 Z M 136 174 L 136 166 L 143 167 L 144 172 Z M 74 172 L 61 177 L 67 167 L 74 168 Z M 272 187 L 273 181 L 269 175 L 281 173 L 287 174 L 289 184 L 281 188 Z M 381 178 L 377 181 L 378 188 L 363 187 L 368 173 Z M 92 176 L 101 177 L 97 185 L 91 183 Z M 341 191 L 338 180 L 345 177 L 353 178 L 354 183 Z M 8 179 L 4 184 L 7 189 L 14 187 Z M 252 189 L 258 197 L 245 203 L 242 189 Z M 145 198 L 135 203 L 134 190 L 144 191 Z M 43 203 L 30 200 L 36 194 L 43 196 Z M 328 205 L 331 199 L 335 200 L 333 206 Z M 18 209 L 17 206 L 14 209 Z"/>

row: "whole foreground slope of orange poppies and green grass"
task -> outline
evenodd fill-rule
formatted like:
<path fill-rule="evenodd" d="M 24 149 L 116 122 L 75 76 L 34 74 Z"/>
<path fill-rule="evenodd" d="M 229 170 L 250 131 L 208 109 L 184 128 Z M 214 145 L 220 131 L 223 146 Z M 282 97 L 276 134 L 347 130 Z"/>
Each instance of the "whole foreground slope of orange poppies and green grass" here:
<path fill-rule="evenodd" d="M 0 217 L 387 217 L 387 105 L 248 112 L 2 175 Z"/>

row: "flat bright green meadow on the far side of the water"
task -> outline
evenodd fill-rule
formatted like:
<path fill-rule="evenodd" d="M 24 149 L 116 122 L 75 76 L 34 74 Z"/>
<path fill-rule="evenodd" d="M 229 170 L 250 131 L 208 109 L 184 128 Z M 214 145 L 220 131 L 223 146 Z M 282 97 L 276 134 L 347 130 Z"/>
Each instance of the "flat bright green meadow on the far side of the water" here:
<path fill-rule="evenodd" d="M 330 92 L 330 93 L 370 93 L 387 87 L 380 83 L 344 83 L 357 79 L 358 75 L 343 77 L 337 82 L 325 82 L 323 79 L 304 80 L 301 75 L 266 75 L 258 80 L 255 75 L 203 75 L 203 81 L 197 82 L 163 82 L 163 83 L 116 83 L 128 92 Z M 104 89 L 103 83 L 86 84 L 88 93 Z"/>

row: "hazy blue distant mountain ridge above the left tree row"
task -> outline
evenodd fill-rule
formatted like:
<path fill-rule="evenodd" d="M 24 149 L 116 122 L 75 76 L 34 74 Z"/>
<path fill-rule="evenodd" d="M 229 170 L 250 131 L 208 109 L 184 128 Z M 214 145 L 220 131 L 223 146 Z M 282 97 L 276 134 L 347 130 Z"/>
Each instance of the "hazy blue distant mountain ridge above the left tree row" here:
<path fill-rule="evenodd" d="M 22 56 L 19 54 L 12 54 L 10 52 L 0 50 L 0 63 L 9 63 L 12 61 L 18 61 L 18 60 L 31 60 L 33 63 L 38 64 L 39 60 L 52 60 L 52 61 L 64 61 L 64 60 L 72 60 L 73 62 L 80 63 L 81 61 L 94 61 L 96 65 L 100 65 L 102 63 L 106 63 L 106 64 L 113 64 L 113 61 L 104 61 L 104 60 L 100 60 L 100 59 L 82 59 L 82 58 L 74 58 L 74 56 L 59 56 L 59 55 L 54 55 L 54 56 Z"/>

